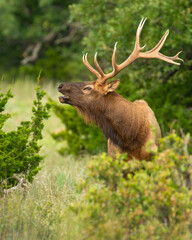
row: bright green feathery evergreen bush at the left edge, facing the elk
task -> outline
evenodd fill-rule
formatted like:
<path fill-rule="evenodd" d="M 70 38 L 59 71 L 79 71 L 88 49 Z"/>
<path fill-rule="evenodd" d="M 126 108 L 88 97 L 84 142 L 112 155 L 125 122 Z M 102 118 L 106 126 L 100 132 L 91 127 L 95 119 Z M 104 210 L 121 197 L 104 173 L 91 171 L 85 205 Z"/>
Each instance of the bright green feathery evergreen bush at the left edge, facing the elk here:
<path fill-rule="evenodd" d="M 17 130 L 5 132 L 3 126 L 10 114 L 5 113 L 8 100 L 13 97 L 11 90 L 0 94 L 0 187 L 10 188 L 17 183 L 15 175 L 32 181 L 40 167 L 43 156 L 39 155 L 42 139 L 43 120 L 49 117 L 50 104 L 42 103 L 43 90 L 36 88 L 37 100 L 33 102 L 31 121 L 22 121 Z"/>

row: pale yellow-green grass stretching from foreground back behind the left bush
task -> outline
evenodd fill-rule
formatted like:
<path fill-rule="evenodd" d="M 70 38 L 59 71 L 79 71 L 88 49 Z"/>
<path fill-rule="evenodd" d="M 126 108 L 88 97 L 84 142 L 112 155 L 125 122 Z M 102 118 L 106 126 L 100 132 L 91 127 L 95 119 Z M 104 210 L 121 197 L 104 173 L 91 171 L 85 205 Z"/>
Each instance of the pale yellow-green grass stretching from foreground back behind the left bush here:
<path fill-rule="evenodd" d="M 6 111 L 13 114 L 5 130 L 15 129 L 31 116 L 36 83 L 26 79 L 11 85 L 14 98 L 7 104 Z M 57 83 L 44 83 L 42 88 L 48 96 L 57 99 Z M 5 92 L 9 85 L 1 82 Z M 64 126 L 51 113 L 45 122 L 41 154 L 45 155 L 42 170 L 35 177 L 26 196 L 15 192 L 0 198 L 0 239 L 78 239 L 78 224 L 68 211 L 68 204 L 80 198 L 74 185 L 83 178 L 85 162 L 89 157 L 75 159 L 57 153 L 58 143 L 50 132 Z"/>

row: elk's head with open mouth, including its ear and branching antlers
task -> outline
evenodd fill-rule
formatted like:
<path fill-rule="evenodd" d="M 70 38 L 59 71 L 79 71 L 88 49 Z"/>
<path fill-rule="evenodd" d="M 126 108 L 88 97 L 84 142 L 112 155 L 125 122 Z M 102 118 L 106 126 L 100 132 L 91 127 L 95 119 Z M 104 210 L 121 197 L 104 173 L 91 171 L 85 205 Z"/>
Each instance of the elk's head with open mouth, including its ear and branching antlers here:
<path fill-rule="evenodd" d="M 147 52 L 141 52 L 141 50 L 144 49 L 145 46 L 140 47 L 139 38 L 146 19 L 147 18 L 143 18 L 138 26 L 136 33 L 136 42 L 133 52 L 120 65 L 118 65 L 115 61 L 117 42 L 115 43 L 112 55 L 113 70 L 111 73 L 105 74 L 102 71 L 97 62 L 97 53 L 94 57 L 94 64 L 97 70 L 89 64 L 87 60 L 88 53 L 83 55 L 84 65 L 88 68 L 90 72 L 92 72 L 97 77 L 97 79 L 92 82 L 73 82 L 60 84 L 60 86 L 58 87 L 58 91 L 64 95 L 59 97 L 60 102 L 70 104 L 74 107 L 81 109 L 87 108 L 89 104 L 93 104 L 95 101 L 100 102 L 101 99 L 106 98 L 109 93 L 114 92 L 120 83 L 120 80 L 115 80 L 111 82 L 107 82 L 107 80 L 116 76 L 122 69 L 127 67 L 129 64 L 131 64 L 138 58 L 158 58 L 172 64 L 180 65 L 180 63 L 175 62 L 175 60 L 183 61 L 178 57 L 181 51 L 173 57 L 165 56 L 159 52 L 169 34 L 169 30 L 165 32 L 164 36 L 153 49 Z"/>

